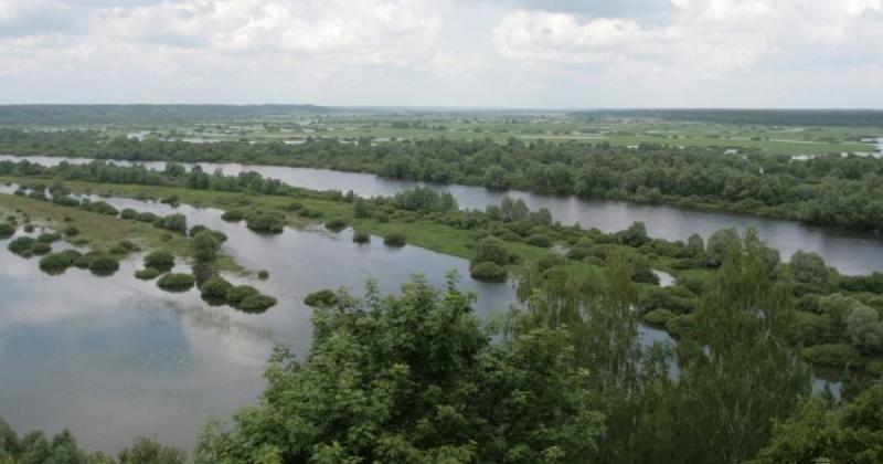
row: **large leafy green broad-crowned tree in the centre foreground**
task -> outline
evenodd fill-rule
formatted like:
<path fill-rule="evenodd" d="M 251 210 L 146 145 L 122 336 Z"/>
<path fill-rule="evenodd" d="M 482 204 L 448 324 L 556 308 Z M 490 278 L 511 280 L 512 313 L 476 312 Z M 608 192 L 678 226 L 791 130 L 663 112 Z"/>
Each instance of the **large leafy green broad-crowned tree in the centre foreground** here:
<path fill-rule="evenodd" d="M 471 303 L 455 281 L 341 294 L 306 360 L 277 350 L 260 405 L 210 425 L 196 462 L 585 462 L 602 418 L 566 337 L 492 344 Z"/>

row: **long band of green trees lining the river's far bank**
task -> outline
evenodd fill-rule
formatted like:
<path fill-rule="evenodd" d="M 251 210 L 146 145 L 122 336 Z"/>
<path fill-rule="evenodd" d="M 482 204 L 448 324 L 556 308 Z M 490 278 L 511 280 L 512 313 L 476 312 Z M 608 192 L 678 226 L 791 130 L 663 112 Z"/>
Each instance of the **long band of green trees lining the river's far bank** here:
<path fill-rule="evenodd" d="M 880 231 L 883 161 L 823 156 L 806 161 L 720 148 L 511 139 L 300 145 L 102 138 L 97 131 L 0 129 L 0 152 L 134 161 L 243 162 L 370 172 L 391 179 L 483 186 L 717 209 L 819 225 Z"/>

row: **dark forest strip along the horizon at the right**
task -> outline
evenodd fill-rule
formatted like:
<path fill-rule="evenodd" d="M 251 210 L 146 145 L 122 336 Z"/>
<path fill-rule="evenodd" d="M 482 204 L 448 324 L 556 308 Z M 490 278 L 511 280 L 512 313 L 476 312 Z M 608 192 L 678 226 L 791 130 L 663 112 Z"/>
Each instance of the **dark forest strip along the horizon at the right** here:
<path fill-rule="evenodd" d="M 597 109 L 572 117 L 657 118 L 758 126 L 883 126 L 879 109 Z"/>

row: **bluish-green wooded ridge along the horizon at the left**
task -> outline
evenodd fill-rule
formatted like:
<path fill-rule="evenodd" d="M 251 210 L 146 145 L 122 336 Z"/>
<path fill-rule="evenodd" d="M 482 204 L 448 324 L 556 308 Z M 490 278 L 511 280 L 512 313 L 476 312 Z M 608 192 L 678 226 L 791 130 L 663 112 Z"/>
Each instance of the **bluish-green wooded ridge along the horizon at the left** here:
<path fill-rule="evenodd" d="M 313 105 L 0 105 L 0 125 L 160 124 L 327 114 Z"/>

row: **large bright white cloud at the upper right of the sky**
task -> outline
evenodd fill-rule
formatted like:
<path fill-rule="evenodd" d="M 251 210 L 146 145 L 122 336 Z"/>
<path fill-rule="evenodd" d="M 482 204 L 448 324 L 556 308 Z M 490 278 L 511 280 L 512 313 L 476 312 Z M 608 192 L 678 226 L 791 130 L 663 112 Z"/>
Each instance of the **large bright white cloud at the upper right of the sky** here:
<path fill-rule="evenodd" d="M 709 76 L 813 46 L 832 59 L 844 49 L 876 53 L 876 59 L 883 51 L 883 20 L 876 14 L 881 0 L 671 0 L 671 6 L 668 21 L 651 25 L 628 18 L 581 22 L 574 13 L 514 10 L 494 28 L 493 43 L 503 59 L 526 64 Z"/>

